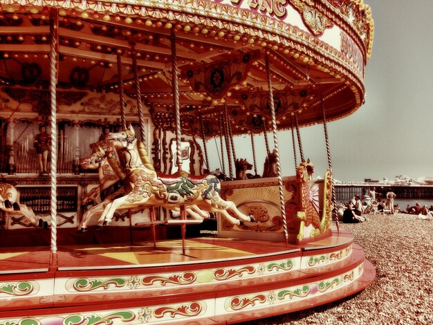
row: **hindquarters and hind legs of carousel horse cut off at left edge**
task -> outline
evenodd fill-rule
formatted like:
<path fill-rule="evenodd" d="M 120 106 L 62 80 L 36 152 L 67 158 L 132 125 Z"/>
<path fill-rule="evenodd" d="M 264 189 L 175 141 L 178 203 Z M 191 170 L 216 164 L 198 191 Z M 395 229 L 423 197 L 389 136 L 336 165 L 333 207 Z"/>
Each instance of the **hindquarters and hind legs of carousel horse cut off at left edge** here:
<path fill-rule="evenodd" d="M 48 223 L 37 219 L 35 212 L 25 204 L 19 203 L 19 192 L 13 185 L 0 184 L 0 209 L 10 214 L 22 214 L 37 228 L 48 229 Z"/>

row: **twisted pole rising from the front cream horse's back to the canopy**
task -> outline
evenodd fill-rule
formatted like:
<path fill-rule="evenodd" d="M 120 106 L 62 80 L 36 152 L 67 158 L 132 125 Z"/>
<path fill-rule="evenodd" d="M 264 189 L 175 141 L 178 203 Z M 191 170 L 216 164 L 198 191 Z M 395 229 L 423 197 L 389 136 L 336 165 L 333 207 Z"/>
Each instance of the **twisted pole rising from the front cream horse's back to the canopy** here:
<path fill-rule="evenodd" d="M 176 57 L 176 36 L 174 29 L 172 29 L 172 75 L 173 75 L 173 100 L 174 108 L 176 109 L 176 165 L 178 171 L 182 170 L 182 156 L 181 156 L 181 106 L 179 104 L 179 87 L 178 87 L 178 66 Z"/>

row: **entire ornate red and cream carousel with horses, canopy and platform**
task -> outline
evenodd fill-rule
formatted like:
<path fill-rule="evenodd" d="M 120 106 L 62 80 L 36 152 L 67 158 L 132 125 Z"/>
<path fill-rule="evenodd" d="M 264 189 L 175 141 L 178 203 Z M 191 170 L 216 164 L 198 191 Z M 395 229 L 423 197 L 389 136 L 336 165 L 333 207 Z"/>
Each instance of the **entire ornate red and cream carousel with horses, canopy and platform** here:
<path fill-rule="evenodd" d="M 239 323 L 367 287 L 327 123 L 362 106 L 373 33 L 362 0 L 0 0 L 0 324 Z"/>

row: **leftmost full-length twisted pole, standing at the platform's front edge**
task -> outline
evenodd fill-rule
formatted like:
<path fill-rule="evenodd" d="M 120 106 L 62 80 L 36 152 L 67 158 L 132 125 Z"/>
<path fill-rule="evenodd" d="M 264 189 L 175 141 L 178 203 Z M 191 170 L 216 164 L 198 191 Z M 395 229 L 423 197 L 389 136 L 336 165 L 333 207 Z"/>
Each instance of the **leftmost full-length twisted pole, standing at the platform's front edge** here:
<path fill-rule="evenodd" d="M 50 21 L 50 118 L 51 118 L 51 248 L 50 268 L 57 269 L 57 55 L 58 13 L 52 11 Z"/>

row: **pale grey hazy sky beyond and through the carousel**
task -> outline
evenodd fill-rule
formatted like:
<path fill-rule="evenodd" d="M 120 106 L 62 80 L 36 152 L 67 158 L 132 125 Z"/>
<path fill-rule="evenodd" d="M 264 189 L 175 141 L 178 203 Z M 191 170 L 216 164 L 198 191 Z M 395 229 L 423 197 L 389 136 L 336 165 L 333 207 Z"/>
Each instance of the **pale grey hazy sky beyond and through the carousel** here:
<path fill-rule="evenodd" d="M 349 117 L 327 123 L 333 176 L 345 182 L 433 177 L 433 1 L 364 3 L 371 7 L 375 25 L 365 68 L 365 104 Z M 328 160 L 323 124 L 301 128 L 300 133 L 304 158 L 314 163 L 315 176 L 324 176 Z M 272 145 L 271 133 L 268 139 Z M 215 169 L 220 164 L 212 142 L 208 151 Z M 279 132 L 278 143 L 283 176 L 295 175 L 291 132 Z M 234 138 L 234 146 L 237 158 L 252 163 L 249 137 Z M 261 174 L 263 136 L 255 137 L 255 148 Z"/>

